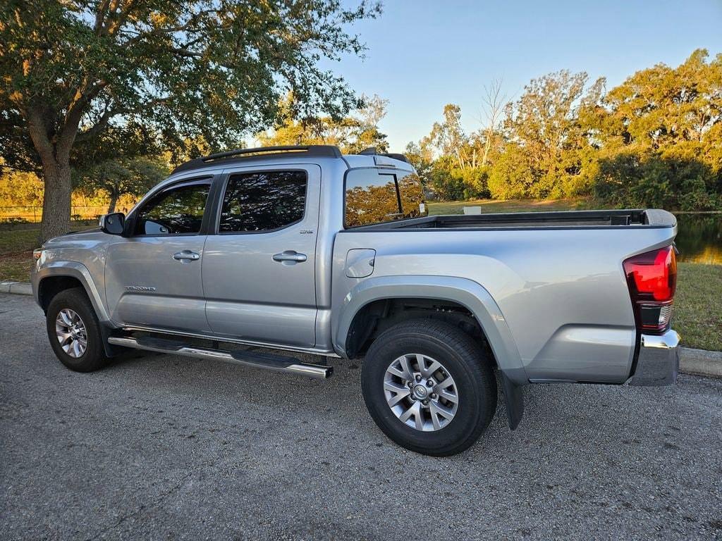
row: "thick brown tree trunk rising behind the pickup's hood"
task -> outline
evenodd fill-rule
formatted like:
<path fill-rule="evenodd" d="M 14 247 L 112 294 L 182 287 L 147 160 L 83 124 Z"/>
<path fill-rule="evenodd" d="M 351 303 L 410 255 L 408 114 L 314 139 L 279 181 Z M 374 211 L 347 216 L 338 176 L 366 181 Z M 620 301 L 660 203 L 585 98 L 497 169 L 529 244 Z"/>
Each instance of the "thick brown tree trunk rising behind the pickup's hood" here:
<path fill-rule="evenodd" d="M 52 237 L 69 232 L 70 230 L 70 196 L 72 185 L 70 181 L 70 166 L 66 161 L 43 164 L 43 184 L 45 197 L 43 198 L 43 225 L 40 227 L 40 237 L 43 242 Z"/>

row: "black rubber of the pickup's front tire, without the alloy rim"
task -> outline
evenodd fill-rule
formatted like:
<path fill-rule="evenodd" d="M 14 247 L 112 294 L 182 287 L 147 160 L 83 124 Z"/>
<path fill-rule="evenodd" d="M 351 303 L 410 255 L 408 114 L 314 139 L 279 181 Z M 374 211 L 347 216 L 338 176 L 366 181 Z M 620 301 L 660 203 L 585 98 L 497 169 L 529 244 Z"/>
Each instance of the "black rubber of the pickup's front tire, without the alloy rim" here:
<path fill-rule="evenodd" d="M 56 319 L 63 309 L 70 309 L 75 312 L 82 320 L 85 328 L 87 346 L 82 355 L 77 357 L 73 357 L 63 350 L 56 334 Z M 61 363 L 69 369 L 77 372 L 92 372 L 108 364 L 108 357 L 105 356 L 105 350 L 103 349 L 100 323 L 84 289 L 80 287 L 65 289 L 54 296 L 50 306 L 48 306 L 45 322 L 45 327 L 48 330 L 48 340 L 50 340 L 53 351 Z"/>

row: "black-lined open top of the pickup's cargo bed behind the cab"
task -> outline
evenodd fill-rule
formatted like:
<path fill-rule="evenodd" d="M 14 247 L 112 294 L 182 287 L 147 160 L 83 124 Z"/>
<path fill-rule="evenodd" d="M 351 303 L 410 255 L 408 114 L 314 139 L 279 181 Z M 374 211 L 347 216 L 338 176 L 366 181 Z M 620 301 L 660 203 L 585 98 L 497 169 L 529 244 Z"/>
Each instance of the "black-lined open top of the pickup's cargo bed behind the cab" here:
<path fill-rule="evenodd" d="M 370 226 L 359 226 L 349 229 L 349 231 L 378 231 L 379 229 L 586 229 L 599 227 L 614 227 L 616 229 L 618 227 L 674 227 L 676 223 L 674 216 L 667 211 L 632 209 L 425 216 Z"/>

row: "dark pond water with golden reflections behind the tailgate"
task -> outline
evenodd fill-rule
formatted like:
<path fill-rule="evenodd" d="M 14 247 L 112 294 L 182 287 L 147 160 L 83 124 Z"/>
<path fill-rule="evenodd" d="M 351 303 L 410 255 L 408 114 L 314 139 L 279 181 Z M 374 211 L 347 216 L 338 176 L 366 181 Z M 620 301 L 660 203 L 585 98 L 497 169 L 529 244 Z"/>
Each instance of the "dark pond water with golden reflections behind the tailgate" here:
<path fill-rule="evenodd" d="M 722 265 L 722 214 L 676 214 L 678 261 Z"/>

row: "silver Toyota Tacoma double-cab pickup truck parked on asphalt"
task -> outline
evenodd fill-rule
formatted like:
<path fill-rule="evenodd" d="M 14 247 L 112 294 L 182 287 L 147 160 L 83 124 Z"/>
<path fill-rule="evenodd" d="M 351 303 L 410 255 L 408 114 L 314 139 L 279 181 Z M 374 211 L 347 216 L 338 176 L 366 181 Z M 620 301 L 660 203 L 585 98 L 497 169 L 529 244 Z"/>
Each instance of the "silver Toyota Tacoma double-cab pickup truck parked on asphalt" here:
<path fill-rule="evenodd" d="M 69 369 L 136 348 L 323 378 L 362 356 L 378 427 L 442 456 L 497 384 L 514 429 L 527 384 L 674 383 L 676 233 L 661 210 L 429 216 L 401 154 L 243 149 L 46 242 L 32 286 Z"/>

